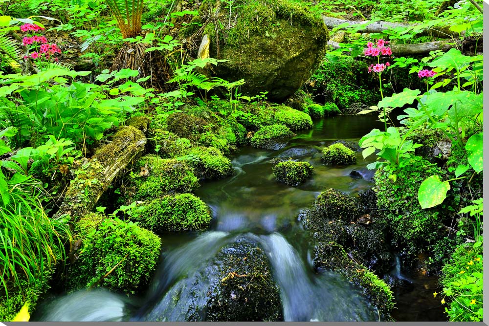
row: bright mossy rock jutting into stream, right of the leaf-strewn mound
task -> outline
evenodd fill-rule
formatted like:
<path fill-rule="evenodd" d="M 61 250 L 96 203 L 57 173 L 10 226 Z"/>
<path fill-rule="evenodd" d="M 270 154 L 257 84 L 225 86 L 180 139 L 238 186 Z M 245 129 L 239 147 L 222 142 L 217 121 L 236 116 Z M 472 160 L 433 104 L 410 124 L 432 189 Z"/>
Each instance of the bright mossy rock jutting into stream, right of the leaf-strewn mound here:
<path fill-rule="evenodd" d="M 233 174 L 231 161 L 214 147 L 194 147 L 186 157 L 186 161 L 200 179 L 222 179 Z"/>

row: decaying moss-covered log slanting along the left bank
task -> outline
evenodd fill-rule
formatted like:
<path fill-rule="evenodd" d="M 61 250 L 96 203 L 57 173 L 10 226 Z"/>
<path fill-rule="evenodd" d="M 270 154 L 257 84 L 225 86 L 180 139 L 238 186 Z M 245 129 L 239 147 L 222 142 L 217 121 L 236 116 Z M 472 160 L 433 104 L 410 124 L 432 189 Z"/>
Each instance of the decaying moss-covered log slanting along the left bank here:
<path fill-rule="evenodd" d="M 148 129 L 149 119 L 141 117 L 131 124 L 117 131 L 110 144 L 99 148 L 76 170 L 54 218 L 69 216 L 76 221 L 90 212 L 120 171 L 144 151 L 146 136 L 141 130 Z"/>

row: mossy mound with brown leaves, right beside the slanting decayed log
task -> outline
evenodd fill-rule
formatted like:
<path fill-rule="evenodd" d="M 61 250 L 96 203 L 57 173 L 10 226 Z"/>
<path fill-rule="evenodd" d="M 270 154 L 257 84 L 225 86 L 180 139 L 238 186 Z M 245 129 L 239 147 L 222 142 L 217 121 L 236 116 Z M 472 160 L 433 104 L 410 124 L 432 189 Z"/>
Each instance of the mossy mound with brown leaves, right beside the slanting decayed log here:
<path fill-rule="evenodd" d="M 199 187 L 199 179 L 185 161 L 147 155 L 137 163 L 136 172 L 139 171 L 149 174 L 133 179 L 136 200 L 157 198 L 174 192 L 189 193 Z"/>

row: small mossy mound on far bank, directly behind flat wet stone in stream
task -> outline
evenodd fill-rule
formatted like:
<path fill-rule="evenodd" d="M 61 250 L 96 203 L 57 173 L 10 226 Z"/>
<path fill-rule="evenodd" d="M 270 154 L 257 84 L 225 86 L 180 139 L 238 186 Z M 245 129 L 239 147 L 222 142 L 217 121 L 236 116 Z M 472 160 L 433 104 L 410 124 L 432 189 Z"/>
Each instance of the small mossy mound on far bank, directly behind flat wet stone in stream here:
<path fill-rule="evenodd" d="M 280 150 L 287 144 L 287 138 L 295 136 L 289 127 L 284 125 L 270 125 L 256 131 L 250 144 L 256 148 L 266 150 Z"/>

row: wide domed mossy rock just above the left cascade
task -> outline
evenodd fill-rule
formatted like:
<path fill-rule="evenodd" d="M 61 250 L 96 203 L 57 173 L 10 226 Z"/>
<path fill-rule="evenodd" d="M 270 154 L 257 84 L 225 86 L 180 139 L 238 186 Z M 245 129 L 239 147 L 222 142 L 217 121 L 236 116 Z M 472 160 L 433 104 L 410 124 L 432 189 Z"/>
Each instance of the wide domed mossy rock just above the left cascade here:
<path fill-rule="evenodd" d="M 209 208 L 199 197 L 178 194 L 143 203 L 131 219 L 156 233 L 183 232 L 206 230 L 211 215 Z"/>

